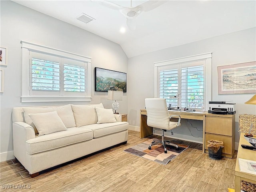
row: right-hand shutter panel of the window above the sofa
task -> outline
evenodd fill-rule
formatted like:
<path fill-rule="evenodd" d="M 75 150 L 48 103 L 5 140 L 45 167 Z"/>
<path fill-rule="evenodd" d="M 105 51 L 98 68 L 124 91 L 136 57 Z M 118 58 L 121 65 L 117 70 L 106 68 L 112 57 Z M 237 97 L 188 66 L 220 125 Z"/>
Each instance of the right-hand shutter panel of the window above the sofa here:
<path fill-rule="evenodd" d="M 85 68 L 64 64 L 64 91 L 85 92 Z"/>

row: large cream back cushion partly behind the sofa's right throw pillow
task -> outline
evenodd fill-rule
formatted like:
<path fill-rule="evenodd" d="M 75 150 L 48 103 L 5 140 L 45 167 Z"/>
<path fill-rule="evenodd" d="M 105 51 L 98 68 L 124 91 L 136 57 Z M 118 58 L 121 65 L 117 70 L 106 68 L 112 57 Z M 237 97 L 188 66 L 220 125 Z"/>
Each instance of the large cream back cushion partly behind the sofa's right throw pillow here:
<path fill-rule="evenodd" d="M 97 114 L 93 106 L 71 105 L 76 121 L 76 126 L 81 127 L 97 123 Z"/>

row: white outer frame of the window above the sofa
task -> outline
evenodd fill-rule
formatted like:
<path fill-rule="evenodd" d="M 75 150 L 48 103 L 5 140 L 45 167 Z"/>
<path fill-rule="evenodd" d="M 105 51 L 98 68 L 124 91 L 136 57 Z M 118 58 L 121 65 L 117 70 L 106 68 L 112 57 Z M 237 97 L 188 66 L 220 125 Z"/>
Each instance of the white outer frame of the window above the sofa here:
<path fill-rule="evenodd" d="M 51 48 L 31 42 L 21 40 L 22 44 L 22 96 L 21 102 L 71 102 L 71 101 L 91 101 L 91 58 L 79 54 Z M 54 95 L 30 95 L 30 52 L 37 52 L 46 55 L 58 56 L 86 62 L 86 92 L 84 95 L 69 94 L 65 96 Z"/>

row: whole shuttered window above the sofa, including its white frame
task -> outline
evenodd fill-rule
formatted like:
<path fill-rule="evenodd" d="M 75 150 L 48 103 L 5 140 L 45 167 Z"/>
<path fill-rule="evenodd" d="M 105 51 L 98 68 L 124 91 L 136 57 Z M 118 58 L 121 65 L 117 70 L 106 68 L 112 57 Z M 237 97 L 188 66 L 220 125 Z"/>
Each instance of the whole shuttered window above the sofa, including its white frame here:
<path fill-rule="evenodd" d="M 84 56 L 22 42 L 22 102 L 90 101 L 90 74 Z"/>

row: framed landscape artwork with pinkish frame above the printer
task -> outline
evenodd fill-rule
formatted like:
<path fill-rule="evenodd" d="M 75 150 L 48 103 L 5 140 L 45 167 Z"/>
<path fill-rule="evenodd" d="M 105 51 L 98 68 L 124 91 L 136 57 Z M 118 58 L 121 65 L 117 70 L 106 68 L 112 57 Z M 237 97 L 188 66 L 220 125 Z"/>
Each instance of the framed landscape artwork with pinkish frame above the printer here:
<path fill-rule="evenodd" d="M 218 66 L 218 94 L 256 93 L 256 62 Z"/>

